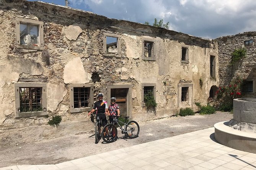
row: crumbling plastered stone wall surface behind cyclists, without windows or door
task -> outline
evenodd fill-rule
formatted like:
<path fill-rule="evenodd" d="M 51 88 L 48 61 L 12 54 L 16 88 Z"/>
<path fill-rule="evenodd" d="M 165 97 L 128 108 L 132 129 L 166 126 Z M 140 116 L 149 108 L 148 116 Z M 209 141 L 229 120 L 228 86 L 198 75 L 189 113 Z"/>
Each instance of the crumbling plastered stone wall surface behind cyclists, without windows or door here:
<path fill-rule="evenodd" d="M 88 120 L 88 112 L 70 113 L 70 84 L 93 83 L 94 96 L 106 96 L 107 85 L 132 85 L 132 119 L 152 120 L 176 114 L 178 83 L 192 82 L 192 103 L 207 103 L 210 87 L 210 54 L 218 58 L 217 42 L 129 21 L 108 19 L 85 11 L 24 0 L 0 6 L 0 127 L 43 125 L 47 117 L 15 118 L 14 85 L 21 80 L 46 80 L 47 114 L 61 115 L 62 122 Z M 16 47 L 15 17 L 42 21 L 44 50 Z M 104 56 L 103 34 L 120 35 L 121 54 Z M 156 61 L 142 59 L 142 37 L 155 38 Z M 189 47 L 189 62 L 181 63 L 181 47 Z M 217 68 L 216 68 L 217 69 Z M 94 78 L 96 77 L 98 78 Z M 203 80 L 202 87 L 199 79 Z M 156 83 L 155 111 L 142 107 L 142 83 Z"/>

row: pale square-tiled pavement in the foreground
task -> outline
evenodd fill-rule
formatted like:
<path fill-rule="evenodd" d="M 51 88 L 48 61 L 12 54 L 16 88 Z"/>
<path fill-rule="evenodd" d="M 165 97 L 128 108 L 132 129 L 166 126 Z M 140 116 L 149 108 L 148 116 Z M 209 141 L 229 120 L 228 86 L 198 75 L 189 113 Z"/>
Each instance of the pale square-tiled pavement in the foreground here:
<path fill-rule="evenodd" d="M 256 154 L 217 143 L 214 139 L 214 127 L 212 127 L 56 165 L 16 165 L 0 168 L 0 170 L 107 169 L 255 170 Z"/>

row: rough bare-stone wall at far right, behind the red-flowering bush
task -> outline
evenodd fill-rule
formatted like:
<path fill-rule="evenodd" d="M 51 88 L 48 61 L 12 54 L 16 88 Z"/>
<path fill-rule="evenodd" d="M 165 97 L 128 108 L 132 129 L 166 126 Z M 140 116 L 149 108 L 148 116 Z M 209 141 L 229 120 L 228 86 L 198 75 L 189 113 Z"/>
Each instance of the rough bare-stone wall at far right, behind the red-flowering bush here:
<path fill-rule="evenodd" d="M 256 32 L 244 32 L 236 35 L 216 38 L 219 53 L 220 85 L 228 85 L 233 77 L 245 79 L 243 84 L 243 97 L 256 97 Z M 246 58 L 233 64 L 231 54 L 235 49 L 245 48 Z"/>

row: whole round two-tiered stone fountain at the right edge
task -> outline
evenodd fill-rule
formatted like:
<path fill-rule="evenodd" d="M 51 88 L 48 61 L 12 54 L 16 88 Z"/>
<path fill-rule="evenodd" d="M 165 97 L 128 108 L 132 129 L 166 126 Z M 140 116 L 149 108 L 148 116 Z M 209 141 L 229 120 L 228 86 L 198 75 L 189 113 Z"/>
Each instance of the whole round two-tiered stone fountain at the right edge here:
<path fill-rule="evenodd" d="M 256 98 L 233 99 L 233 119 L 218 122 L 214 128 L 220 144 L 256 153 Z"/>

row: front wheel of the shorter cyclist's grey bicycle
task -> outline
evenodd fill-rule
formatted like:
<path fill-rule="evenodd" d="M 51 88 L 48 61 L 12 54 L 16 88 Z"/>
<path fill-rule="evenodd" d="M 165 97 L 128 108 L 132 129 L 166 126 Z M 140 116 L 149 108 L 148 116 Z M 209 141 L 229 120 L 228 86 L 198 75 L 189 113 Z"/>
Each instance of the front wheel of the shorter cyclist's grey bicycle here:
<path fill-rule="evenodd" d="M 114 142 L 117 138 L 117 129 L 116 127 L 109 123 L 106 126 L 104 126 L 101 136 L 104 142 L 111 143 Z"/>

